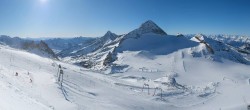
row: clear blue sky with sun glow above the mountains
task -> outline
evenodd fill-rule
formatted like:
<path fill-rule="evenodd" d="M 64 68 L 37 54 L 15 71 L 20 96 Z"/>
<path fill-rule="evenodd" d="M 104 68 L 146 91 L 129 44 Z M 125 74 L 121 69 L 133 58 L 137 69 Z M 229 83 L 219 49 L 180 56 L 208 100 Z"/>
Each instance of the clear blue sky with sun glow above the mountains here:
<path fill-rule="evenodd" d="M 0 34 L 128 33 L 153 20 L 169 34 L 250 35 L 250 0 L 0 0 Z"/>

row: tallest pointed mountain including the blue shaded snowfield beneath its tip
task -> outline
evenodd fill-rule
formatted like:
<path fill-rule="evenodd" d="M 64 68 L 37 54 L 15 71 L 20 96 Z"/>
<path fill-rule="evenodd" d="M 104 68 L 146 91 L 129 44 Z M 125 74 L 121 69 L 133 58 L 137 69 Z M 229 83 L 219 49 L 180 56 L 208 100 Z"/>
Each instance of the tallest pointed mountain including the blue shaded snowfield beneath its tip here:
<path fill-rule="evenodd" d="M 185 37 L 167 35 L 153 21 L 146 21 L 138 29 L 129 32 L 121 39 L 116 52 L 148 51 L 152 54 L 166 55 L 196 45 L 198 43 Z"/>

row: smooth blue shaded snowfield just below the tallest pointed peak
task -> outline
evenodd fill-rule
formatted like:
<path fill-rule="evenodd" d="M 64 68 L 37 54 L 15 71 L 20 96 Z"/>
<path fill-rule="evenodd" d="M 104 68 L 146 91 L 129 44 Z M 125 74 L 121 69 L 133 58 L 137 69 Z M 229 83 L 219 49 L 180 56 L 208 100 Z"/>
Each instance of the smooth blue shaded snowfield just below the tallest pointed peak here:
<path fill-rule="evenodd" d="M 127 37 L 127 36 L 126 36 Z M 148 51 L 152 54 L 166 55 L 183 48 L 197 46 L 198 43 L 193 42 L 185 37 L 176 37 L 171 35 L 158 35 L 148 33 L 138 38 L 123 39 L 117 52 L 122 51 Z"/>

